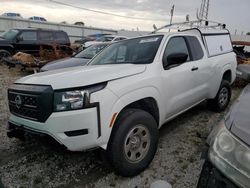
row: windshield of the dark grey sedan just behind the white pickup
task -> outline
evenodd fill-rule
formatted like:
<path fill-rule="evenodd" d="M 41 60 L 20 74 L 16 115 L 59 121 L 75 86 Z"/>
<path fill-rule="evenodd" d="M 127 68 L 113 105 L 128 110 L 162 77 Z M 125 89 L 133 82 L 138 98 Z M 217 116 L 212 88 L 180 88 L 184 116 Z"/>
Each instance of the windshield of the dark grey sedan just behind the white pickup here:
<path fill-rule="evenodd" d="M 99 53 L 107 45 L 108 44 L 92 45 L 88 47 L 87 49 L 81 51 L 80 53 L 76 54 L 74 57 L 92 59 L 97 53 Z"/>

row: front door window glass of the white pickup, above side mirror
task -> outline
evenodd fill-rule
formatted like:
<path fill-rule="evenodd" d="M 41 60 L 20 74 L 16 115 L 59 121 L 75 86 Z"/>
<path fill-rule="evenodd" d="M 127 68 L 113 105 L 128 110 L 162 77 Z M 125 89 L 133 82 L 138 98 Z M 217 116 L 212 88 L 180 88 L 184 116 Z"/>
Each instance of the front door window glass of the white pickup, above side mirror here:
<path fill-rule="evenodd" d="M 188 48 L 183 37 L 173 37 L 168 41 L 167 47 L 164 52 L 164 57 L 168 57 L 170 54 L 185 53 L 188 55 L 187 61 L 190 61 L 190 55 Z"/>

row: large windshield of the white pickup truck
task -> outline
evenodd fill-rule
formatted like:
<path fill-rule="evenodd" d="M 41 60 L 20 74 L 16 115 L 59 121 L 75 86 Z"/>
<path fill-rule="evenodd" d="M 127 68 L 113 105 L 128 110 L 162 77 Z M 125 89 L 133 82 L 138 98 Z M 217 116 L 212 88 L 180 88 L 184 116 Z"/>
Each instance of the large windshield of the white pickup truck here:
<path fill-rule="evenodd" d="M 163 36 L 149 36 L 116 42 L 105 48 L 89 65 L 152 63 Z"/>

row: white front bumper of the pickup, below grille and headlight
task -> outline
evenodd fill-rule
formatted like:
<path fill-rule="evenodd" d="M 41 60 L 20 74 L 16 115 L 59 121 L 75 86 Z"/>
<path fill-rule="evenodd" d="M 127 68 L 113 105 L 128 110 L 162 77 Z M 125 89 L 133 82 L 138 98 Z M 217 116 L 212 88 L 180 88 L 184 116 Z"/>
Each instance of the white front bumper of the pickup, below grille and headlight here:
<path fill-rule="evenodd" d="M 70 151 L 82 151 L 98 147 L 100 136 L 97 108 L 52 113 L 45 123 L 11 114 L 9 135 L 13 130 L 45 134 L 54 138 Z"/>

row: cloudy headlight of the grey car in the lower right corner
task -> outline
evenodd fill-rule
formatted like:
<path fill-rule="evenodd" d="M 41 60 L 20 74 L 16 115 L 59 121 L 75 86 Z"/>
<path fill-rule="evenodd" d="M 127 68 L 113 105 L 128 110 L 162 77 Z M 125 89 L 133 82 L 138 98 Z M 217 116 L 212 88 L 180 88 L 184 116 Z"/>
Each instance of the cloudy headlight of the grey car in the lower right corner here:
<path fill-rule="evenodd" d="M 217 132 L 209 137 L 210 161 L 240 187 L 248 187 L 250 181 L 250 149 L 220 124 Z"/>

